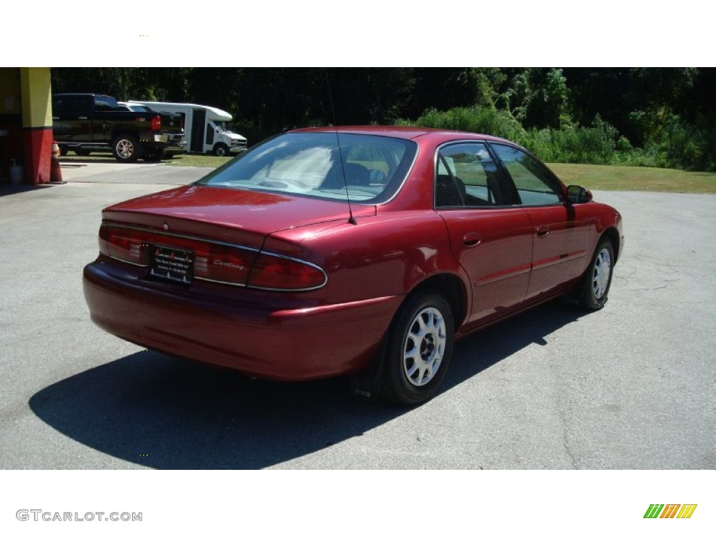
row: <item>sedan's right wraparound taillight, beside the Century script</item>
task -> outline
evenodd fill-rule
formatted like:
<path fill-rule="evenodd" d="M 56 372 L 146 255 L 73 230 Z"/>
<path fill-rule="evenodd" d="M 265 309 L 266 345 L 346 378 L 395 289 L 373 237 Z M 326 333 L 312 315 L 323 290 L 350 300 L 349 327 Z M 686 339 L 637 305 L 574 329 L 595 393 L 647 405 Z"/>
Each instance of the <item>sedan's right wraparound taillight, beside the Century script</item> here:
<path fill-rule="evenodd" d="M 253 262 L 248 286 L 277 291 L 318 289 L 326 283 L 326 273 L 318 266 L 297 259 L 260 253 Z"/>

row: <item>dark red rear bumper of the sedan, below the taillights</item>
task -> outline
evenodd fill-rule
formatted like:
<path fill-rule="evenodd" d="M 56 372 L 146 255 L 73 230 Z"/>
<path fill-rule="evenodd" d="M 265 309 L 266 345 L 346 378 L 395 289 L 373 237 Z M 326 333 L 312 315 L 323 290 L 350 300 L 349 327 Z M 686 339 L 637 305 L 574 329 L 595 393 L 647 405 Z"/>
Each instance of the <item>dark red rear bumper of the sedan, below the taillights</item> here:
<path fill-rule="evenodd" d="M 279 380 L 364 369 L 401 300 L 384 296 L 285 309 L 257 303 L 261 291 L 233 288 L 227 292 L 237 300 L 227 305 L 226 300 L 174 296 L 170 284 L 157 286 L 162 290 L 123 281 L 102 270 L 98 261 L 84 268 L 83 287 L 92 321 L 110 334 L 167 354 Z M 242 304 L 242 293 L 251 294 L 251 301 Z M 271 294 L 263 294 L 268 302 Z"/>

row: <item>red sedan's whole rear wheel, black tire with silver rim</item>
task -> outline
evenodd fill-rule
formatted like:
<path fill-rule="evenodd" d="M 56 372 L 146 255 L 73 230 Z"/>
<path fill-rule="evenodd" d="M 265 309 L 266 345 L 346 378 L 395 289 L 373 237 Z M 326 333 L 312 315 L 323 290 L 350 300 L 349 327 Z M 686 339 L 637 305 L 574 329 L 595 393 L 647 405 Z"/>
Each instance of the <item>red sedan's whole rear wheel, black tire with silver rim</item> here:
<path fill-rule="evenodd" d="M 442 294 L 410 296 L 387 334 L 382 396 L 420 405 L 435 395 L 450 365 L 454 331 L 453 311 Z"/>

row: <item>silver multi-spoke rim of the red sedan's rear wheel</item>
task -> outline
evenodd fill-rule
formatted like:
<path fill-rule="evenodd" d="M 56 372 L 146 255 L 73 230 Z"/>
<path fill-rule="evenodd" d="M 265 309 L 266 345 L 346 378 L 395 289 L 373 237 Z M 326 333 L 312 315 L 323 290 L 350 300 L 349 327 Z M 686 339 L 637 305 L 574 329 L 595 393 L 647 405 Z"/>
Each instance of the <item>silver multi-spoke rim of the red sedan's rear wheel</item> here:
<path fill-rule="evenodd" d="M 410 324 L 403 350 L 403 371 L 413 386 L 425 386 L 440 369 L 445 354 L 445 319 L 440 310 L 425 308 Z"/>

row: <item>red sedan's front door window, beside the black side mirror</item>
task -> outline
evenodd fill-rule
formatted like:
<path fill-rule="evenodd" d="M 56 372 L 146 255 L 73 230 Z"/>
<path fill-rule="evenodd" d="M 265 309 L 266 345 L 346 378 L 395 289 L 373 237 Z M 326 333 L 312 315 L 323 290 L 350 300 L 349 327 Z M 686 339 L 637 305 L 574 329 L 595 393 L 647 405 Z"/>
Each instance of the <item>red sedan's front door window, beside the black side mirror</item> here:
<path fill-rule="evenodd" d="M 522 205 L 553 205 L 563 201 L 559 183 L 537 160 L 517 147 L 493 144 L 492 148 L 510 174 Z"/>

